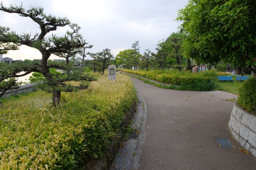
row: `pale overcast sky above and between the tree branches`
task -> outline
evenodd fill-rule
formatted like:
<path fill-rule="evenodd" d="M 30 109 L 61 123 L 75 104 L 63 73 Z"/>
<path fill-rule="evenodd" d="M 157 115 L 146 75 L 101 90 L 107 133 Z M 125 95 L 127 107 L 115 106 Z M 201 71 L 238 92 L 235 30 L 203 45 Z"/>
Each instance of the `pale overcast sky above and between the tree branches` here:
<path fill-rule="evenodd" d="M 108 47 L 116 56 L 119 51 L 131 48 L 134 41 L 140 43 L 140 53 L 145 49 L 154 51 L 156 44 L 177 31 L 180 23 L 174 21 L 177 11 L 188 0 L 2 0 L 4 6 L 42 6 L 46 14 L 67 17 L 81 26 L 80 33 L 94 45 L 91 52 Z M 18 33 L 39 32 L 38 25 L 30 18 L 0 12 L 0 26 L 8 26 Z M 58 28 L 54 34 L 64 35 L 68 27 Z M 52 32 L 51 32 L 52 33 Z M 13 59 L 40 59 L 40 52 L 22 46 L 10 51 Z M 5 56 L 5 57 L 6 57 Z M 52 56 L 51 58 L 57 58 Z"/>

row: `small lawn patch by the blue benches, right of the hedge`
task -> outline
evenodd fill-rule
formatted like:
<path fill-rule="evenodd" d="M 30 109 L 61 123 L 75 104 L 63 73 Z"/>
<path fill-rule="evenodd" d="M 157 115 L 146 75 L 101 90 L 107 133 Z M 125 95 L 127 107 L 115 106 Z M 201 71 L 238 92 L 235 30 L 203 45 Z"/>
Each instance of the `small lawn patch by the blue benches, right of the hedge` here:
<path fill-rule="evenodd" d="M 218 82 L 216 90 L 226 91 L 238 95 L 238 87 L 242 85 L 240 81 L 234 82 Z"/>

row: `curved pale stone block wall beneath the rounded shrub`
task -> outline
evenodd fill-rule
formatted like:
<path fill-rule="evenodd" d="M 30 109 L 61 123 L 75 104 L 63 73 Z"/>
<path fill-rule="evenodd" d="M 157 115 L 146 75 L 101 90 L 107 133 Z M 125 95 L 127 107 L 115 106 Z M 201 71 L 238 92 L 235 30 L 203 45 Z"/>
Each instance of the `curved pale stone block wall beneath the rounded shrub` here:
<path fill-rule="evenodd" d="M 256 115 L 244 111 L 235 103 L 228 126 L 234 138 L 256 156 Z"/>

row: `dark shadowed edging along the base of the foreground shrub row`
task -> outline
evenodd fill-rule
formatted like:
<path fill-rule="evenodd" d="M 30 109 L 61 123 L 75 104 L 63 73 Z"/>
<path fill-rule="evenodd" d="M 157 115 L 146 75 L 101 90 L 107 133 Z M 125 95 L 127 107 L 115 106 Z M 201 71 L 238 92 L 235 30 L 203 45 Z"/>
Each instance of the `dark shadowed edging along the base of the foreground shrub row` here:
<path fill-rule="evenodd" d="M 132 103 L 132 106 L 126 113 L 126 117 L 124 118 L 123 123 L 121 124 L 120 128 L 122 127 L 127 127 L 129 121 L 132 119 L 132 116 L 134 112 L 136 111 L 136 101 Z M 96 163 L 91 169 L 92 170 L 106 170 L 109 169 L 111 166 L 112 160 L 114 160 L 114 156 L 116 154 L 116 150 L 120 147 L 120 137 L 122 136 L 122 130 L 119 130 L 118 136 L 115 136 L 113 141 L 111 142 L 109 146 L 108 152 L 105 153 L 105 158 L 104 160 L 101 160 L 100 162 Z M 106 162 L 106 165 L 105 165 Z"/>

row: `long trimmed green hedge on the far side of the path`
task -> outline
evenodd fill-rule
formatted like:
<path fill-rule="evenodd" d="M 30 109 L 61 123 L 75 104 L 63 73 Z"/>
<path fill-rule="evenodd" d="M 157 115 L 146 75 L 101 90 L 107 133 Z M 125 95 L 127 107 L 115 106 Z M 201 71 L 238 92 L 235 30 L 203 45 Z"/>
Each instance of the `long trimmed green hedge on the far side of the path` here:
<path fill-rule="evenodd" d="M 155 80 L 161 83 L 179 85 L 178 90 L 191 91 L 210 91 L 216 86 L 216 77 L 218 73 L 215 71 L 202 71 L 199 73 L 190 73 L 189 71 L 172 70 L 126 70 L 122 71 L 138 75 L 147 79 Z"/>

